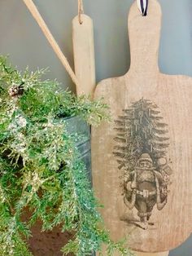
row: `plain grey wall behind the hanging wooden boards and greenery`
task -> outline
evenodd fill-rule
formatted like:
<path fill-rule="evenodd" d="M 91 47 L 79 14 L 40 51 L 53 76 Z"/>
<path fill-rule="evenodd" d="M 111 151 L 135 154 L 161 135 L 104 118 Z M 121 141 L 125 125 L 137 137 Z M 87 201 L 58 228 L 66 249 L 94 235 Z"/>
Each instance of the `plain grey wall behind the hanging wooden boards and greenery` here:
<path fill-rule="evenodd" d="M 64 54 L 72 62 L 72 18 L 77 0 L 34 0 Z M 133 0 L 84 0 L 85 13 L 94 20 L 97 81 L 124 74 L 129 68 L 127 14 Z M 159 0 L 162 36 L 159 68 L 163 73 L 192 77 L 192 1 Z M 10 55 L 19 69 L 49 67 L 46 78 L 74 86 L 22 0 L 0 0 L 0 54 Z M 191 256 L 192 237 L 170 256 Z"/>

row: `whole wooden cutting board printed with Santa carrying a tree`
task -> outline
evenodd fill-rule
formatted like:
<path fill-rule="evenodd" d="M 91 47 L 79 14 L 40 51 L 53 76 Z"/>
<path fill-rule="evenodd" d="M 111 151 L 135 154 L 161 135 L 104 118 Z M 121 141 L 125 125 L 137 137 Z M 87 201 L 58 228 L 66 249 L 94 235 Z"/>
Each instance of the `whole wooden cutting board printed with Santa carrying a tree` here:
<path fill-rule="evenodd" d="M 181 245 L 192 231 L 192 78 L 159 72 L 161 9 L 129 12 L 131 66 L 100 82 L 112 121 L 92 130 L 94 191 L 111 236 L 140 252 Z M 171 46 L 170 46 L 171 47 Z"/>

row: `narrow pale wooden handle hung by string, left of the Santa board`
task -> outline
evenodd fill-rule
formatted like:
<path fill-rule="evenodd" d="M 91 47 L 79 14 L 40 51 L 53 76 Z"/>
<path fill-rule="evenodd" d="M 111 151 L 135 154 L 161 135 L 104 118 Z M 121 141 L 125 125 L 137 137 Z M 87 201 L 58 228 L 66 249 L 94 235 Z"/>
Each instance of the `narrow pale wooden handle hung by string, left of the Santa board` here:
<path fill-rule="evenodd" d="M 81 15 L 72 20 L 72 43 L 76 77 L 81 85 L 77 95 L 93 95 L 95 89 L 94 64 L 94 28 L 93 21 L 88 15 Z"/>

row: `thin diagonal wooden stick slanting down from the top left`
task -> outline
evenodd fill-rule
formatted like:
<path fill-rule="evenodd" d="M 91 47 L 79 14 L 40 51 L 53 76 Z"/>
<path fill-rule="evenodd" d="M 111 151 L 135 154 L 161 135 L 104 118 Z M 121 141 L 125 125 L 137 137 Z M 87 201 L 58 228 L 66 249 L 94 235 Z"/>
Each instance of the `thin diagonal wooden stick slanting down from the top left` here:
<path fill-rule="evenodd" d="M 63 64 L 64 68 L 66 68 L 69 76 L 72 78 L 72 82 L 74 82 L 74 84 L 76 85 L 76 90 L 81 92 L 81 86 L 76 78 L 75 73 L 72 71 L 72 68 L 68 63 L 67 58 L 65 57 L 65 55 L 63 55 L 63 52 L 61 51 L 58 43 L 55 41 L 55 38 L 50 33 L 50 29 L 48 29 L 46 22 L 42 19 L 39 11 L 37 10 L 37 7 L 33 3 L 33 0 L 23 0 L 23 1 L 25 5 L 28 7 L 28 10 L 33 15 L 33 18 L 37 21 L 37 24 L 40 26 L 42 32 L 46 36 L 46 39 L 48 40 L 48 42 L 50 42 L 50 46 L 55 51 L 55 54 L 59 57 L 59 60 Z"/>

